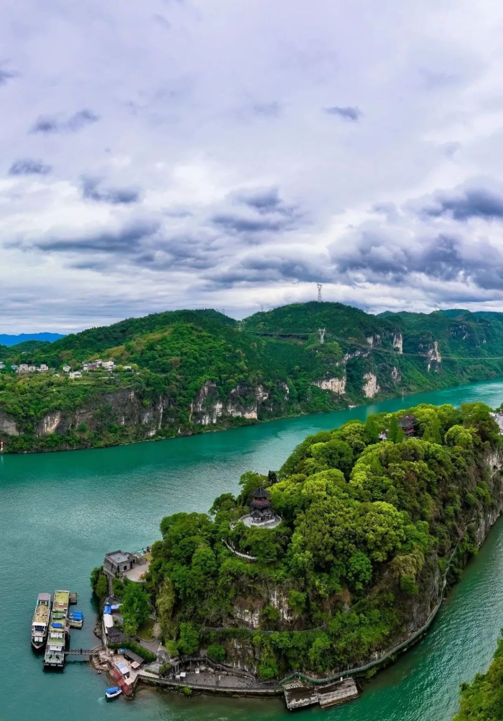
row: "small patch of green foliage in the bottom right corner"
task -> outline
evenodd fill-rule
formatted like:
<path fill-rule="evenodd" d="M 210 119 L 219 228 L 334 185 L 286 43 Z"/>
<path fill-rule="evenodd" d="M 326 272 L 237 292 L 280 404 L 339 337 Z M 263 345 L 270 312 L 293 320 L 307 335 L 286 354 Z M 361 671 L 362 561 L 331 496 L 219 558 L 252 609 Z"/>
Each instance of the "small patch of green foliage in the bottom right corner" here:
<path fill-rule="evenodd" d="M 489 669 L 471 684 L 461 684 L 460 712 L 452 721 L 503 720 L 503 633 Z"/>

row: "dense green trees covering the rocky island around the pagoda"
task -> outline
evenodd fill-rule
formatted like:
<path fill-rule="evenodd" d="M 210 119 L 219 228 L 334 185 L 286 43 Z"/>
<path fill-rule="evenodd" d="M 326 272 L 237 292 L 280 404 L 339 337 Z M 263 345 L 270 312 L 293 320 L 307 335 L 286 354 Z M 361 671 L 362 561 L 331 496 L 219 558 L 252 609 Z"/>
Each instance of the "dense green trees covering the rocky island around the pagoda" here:
<path fill-rule="evenodd" d="M 424 624 L 499 502 L 501 440 L 481 403 L 408 412 L 414 438 L 393 415 L 346 423 L 306 438 L 277 474 L 244 474 L 210 516 L 163 518 L 146 590 L 173 653 L 202 643 L 262 678 L 325 673 Z M 378 441 L 385 428 L 393 440 Z M 258 485 L 281 515 L 274 529 L 240 521 Z"/>

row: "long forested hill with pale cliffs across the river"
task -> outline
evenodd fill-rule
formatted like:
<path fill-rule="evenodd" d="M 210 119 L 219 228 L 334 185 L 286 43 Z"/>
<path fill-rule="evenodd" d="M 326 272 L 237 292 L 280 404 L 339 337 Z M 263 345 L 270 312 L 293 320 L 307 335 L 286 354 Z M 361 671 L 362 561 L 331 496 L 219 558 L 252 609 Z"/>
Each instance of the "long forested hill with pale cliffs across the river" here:
<path fill-rule="evenodd" d="M 325 329 L 323 343 L 318 329 Z M 101 358 L 115 370 L 85 372 Z M 503 376 L 503 315 L 283 306 L 237 321 L 167 311 L 0 346 L 7 450 L 165 438 Z M 19 375 L 11 366 L 51 369 Z M 69 379 L 63 371 L 82 371 Z M 125 368 L 126 366 L 126 368 Z M 79 430 L 80 429 L 80 430 Z"/>

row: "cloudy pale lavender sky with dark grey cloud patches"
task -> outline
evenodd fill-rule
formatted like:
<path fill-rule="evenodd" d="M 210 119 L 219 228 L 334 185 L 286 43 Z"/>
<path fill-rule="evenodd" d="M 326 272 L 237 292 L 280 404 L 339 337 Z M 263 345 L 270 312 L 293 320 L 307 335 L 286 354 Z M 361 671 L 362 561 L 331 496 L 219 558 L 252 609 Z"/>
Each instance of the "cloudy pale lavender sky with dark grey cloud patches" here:
<path fill-rule="evenodd" d="M 0 332 L 503 311 L 503 4 L 3 0 Z"/>

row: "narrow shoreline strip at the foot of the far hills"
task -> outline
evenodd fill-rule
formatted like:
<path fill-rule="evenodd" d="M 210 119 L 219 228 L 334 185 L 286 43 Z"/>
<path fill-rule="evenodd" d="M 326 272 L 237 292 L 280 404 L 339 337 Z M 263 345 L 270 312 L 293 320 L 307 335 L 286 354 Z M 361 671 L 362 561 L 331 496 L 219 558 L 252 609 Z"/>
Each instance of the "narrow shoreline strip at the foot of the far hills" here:
<path fill-rule="evenodd" d="M 425 389 L 422 391 L 413 391 L 410 393 L 403 394 L 401 396 L 380 394 L 380 397 L 369 398 L 369 399 L 367 399 L 367 402 L 361 402 L 361 403 L 357 403 L 357 404 L 349 404 L 348 403 L 348 404 L 346 404 L 345 407 L 334 408 L 333 410 L 327 410 L 327 411 L 320 410 L 320 411 L 291 413 L 291 414 L 287 414 L 287 415 L 278 415 L 278 416 L 274 416 L 271 418 L 263 418 L 263 419 L 258 418 L 256 420 L 244 419 L 245 420 L 244 423 L 240 423 L 238 425 L 227 426 L 227 427 L 216 425 L 213 428 L 208 428 L 205 426 L 201 426 L 201 429 L 197 429 L 197 430 L 186 429 L 176 435 L 169 435 L 169 436 L 165 436 L 162 438 L 139 438 L 138 440 L 135 440 L 135 441 L 126 441 L 124 443 L 120 443 L 120 442 L 119 443 L 108 443 L 108 444 L 105 444 L 102 446 L 78 446 L 78 447 L 73 447 L 73 448 L 44 448 L 43 450 L 33 450 L 33 451 L 29 451 L 29 450 L 6 451 L 6 450 L 4 450 L 4 451 L 1 451 L 0 457 L 1 456 L 25 456 L 25 455 L 30 455 L 30 454 L 67 453 L 69 451 L 100 451 L 100 450 L 105 450 L 106 448 L 121 448 L 123 446 L 137 446 L 140 443 L 159 443 L 160 441 L 174 441 L 178 438 L 192 438 L 194 435 L 203 435 L 206 433 L 224 433 L 224 431 L 226 431 L 226 430 L 240 430 L 241 428 L 250 428 L 255 425 L 261 425 L 264 423 L 273 423 L 274 421 L 278 421 L 278 420 L 288 420 L 290 418 L 302 418 L 307 415 L 328 415 L 330 413 L 339 413 L 339 412 L 354 410 L 355 408 L 362 408 L 365 406 L 382 403 L 385 401 L 406 399 L 406 398 L 410 398 L 412 396 L 421 395 L 421 394 L 425 394 L 425 393 L 436 393 L 436 392 L 441 392 L 442 390 L 447 390 L 450 388 L 452 388 L 452 389 L 462 388 L 463 386 L 472 386 L 472 385 L 479 384 L 479 383 L 494 383 L 495 381 L 498 381 L 498 380 L 503 381 L 503 376 L 497 376 L 496 378 L 492 378 L 492 379 L 481 379 L 478 381 L 470 381 L 469 383 L 460 383 L 460 384 L 456 384 L 453 386 L 452 385 L 439 386 L 437 388 Z M 20 434 L 20 435 L 22 435 L 22 434 Z M 12 436 L 12 437 L 18 438 L 19 436 Z"/>

